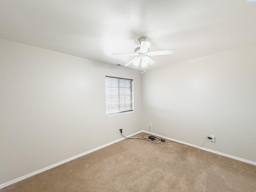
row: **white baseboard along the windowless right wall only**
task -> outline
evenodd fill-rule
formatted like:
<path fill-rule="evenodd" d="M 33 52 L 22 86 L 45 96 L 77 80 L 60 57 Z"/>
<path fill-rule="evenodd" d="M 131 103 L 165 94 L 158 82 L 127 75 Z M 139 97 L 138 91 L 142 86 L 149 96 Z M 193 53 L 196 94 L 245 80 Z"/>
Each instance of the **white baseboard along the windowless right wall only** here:
<path fill-rule="evenodd" d="M 208 152 L 212 152 L 212 153 L 215 153 L 215 154 L 226 156 L 226 157 L 238 160 L 238 161 L 242 161 L 242 162 L 246 162 L 246 163 L 249 163 L 249 164 L 252 164 L 252 165 L 256 165 L 256 162 L 254 162 L 254 161 L 246 160 L 246 159 L 243 159 L 243 158 L 240 158 L 240 157 L 232 156 L 232 155 L 229 155 L 229 154 L 214 151 L 214 150 L 207 149 L 207 148 L 204 148 L 204 147 L 199 148 L 199 146 L 196 146 L 196 145 L 193 145 L 193 144 L 190 144 L 190 143 L 186 143 L 186 142 L 182 142 L 182 141 L 179 141 L 179 140 L 176 140 L 176 139 L 168 138 L 168 137 L 165 137 L 165 136 L 162 136 L 162 135 L 154 134 L 152 132 L 150 133 L 150 132 L 145 131 L 145 130 L 142 130 L 142 132 L 145 132 L 145 133 L 148 133 L 148 134 L 153 134 L 154 136 L 158 136 L 158 137 L 161 137 L 161 138 L 172 140 L 172 141 L 175 141 L 175 142 L 178 142 L 178 143 L 182 143 L 182 144 L 186 144 L 186 145 L 189 145 L 189 146 L 197 147 L 198 149 L 202 149 L 202 150 L 205 150 L 205 151 L 208 151 Z"/>

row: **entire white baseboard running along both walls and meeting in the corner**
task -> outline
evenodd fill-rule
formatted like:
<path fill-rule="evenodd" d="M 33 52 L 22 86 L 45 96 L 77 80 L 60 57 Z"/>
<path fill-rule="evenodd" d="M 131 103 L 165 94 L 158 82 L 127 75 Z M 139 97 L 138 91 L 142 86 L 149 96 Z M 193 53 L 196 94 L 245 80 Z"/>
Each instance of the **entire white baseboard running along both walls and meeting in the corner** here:
<path fill-rule="evenodd" d="M 130 134 L 130 135 L 126 136 L 126 137 L 131 137 L 131 136 L 134 136 L 134 135 L 139 134 L 139 133 L 141 133 L 141 132 L 145 132 L 145 133 L 150 134 L 150 132 L 148 132 L 148 131 L 141 130 L 141 131 L 136 132 L 136 133 L 134 133 L 134 134 Z M 154 134 L 154 133 L 152 133 L 152 134 L 153 134 L 154 136 L 158 136 L 158 137 L 161 137 L 161 138 L 165 138 L 165 139 L 168 139 L 168 140 L 172 140 L 172 141 L 175 141 L 175 142 L 178 142 L 178 143 L 186 144 L 186 145 L 193 146 L 193 147 L 199 147 L 199 146 L 196 146 L 196 145 L 193 145 L 193 144 L 189 144 L 189 143 L 186 143 L 186 142 L 182 142 L 182 141 L 179 141 L 179 140 L 175 140 L 175 139 L 172 139 L 172 138 L 168 138 L 168 137 L 165 137 L 165 136 L 162 136 L 162 135 L 158 135 L 158 134 Z M 4 183 L 4 184 L 0 184 L 0 189 L 6 187 L 6 186 L 8 186 L 8 185 L 14 184 L 14 183 L 16 183 L 16 182 L 19 182 L 19 181 L 21 181 L 21 180 L 24 180 L 24 179 L 26 179 L 26 178 L 29 178 L 29 177 L 31 177 L 31 176 L 34 176 L 34 175 L 36 175 L 36 174 L 38 174 L 38 173 L 41 173 L 41 172 L 44 172 L 44 171 L 49 170 L 49 169 L 51 169 L 51 168 L 54 168 L 54 167 L 56 167 L 56 166 L 59 166 L 59 165 L 61 165 L 61 164 L 64 164 L 64 163 L 66 163 L 66 162 L 69 162 L 69 161 L 71 161 L 71 160 L 74 160 L 74 159 L 76 159 L 76 158 L 78 158 L 78 157 L 84 156 L 84 155 L 86 155 L 86 154 L 89 154 L 89 153 L 94 152 L 94 151 L 96 151 L 96 150 L 99 150 L 99 149 L 101 149 L 101 148 L 104 148 L 104 147 L 106 147 L 106 146 L 109 146 L 109 145 L 111 145 L 111 144 L 114 144 L 114 143 L 116 143 L 116 142 L 119 142 L 119 141 L 121 141 L 121 140 L 124 140 L 124 139 L 125 139 L 125 138 L 120 138 L 120 139 L 118 139 L 118 140 L 115 140 L 115 141 L 110 142 L 110 143 L 108 143 L 108 144 L 99 146 L 99 147 L 94 148 L 94 149 L 92 149 L 92 150 L 86 151 L 86 152 L 81 153 L 81 154 L 79 154 L 79 155 L 76 155 L 76 156 L 74 156 L 74 157 L 68 158 L 68 159 L 66 159 L 66 160 L 63 160 L 63 161 L 61 161 L 61 162 L 58 162 L 58 163 L 53 164 L 53 165 L 51 165 L 51 166 L 48 166 L 48 167 L 46 167 L 46 168 L 42 168 L 42 169 L 40 169 L 40 170 L 38 170 L 38 171 L 35 171 L 35 172 L 30 173 L 30 174 L 24 175 L 24 176 L 22 176 L 22 177 L 19 177 L 19 178 L 17 178 L 17 179 L 11 180 L 11 181 L 6 182 L 6 183 Z M 236 160 L 239 160 L 239 161 L 242 161 L 242 162 L 246 162 L 246 163 L 249 163 L 249 164 L 252 164 L 252 165 L 256 165 L 256 162 L 249 161 L 249 160 L 246 160 L 246 159 L 242 159 L 242 158 L 239 158 L 239 157 L 236 157 L 236 156 L 228 155 L 228 154 L 225 154 L 225 153 L 221 153 L 221 152 L 214 151 L 214 150 L 207 149 L 207 148 L 203 148 L 203 147 L 200 147 L 199 149 L 202 149 L 202 150 L 205 150 L 205 151 L 208 151 L 208 152 L 212 152 L 212 153 L 215 153 L 215 154 L 219 154 L 219 155 L 222 155 L 222 156 L 226 156 L 226 157 L 229 157 L 229 158 L 232 158 L 232 159 L 236 159 Z"/>

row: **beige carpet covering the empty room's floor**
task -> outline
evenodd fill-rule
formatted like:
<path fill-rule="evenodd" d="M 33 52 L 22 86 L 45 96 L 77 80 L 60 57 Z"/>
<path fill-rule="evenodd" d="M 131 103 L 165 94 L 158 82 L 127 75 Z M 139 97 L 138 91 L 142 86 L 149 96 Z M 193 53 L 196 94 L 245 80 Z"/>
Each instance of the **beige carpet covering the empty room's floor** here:
<path fill-rule="evenodd" d="M 7 191 L 256 192 L 256 166 L 176 142 L 125 139 L 0 189 Z"/>

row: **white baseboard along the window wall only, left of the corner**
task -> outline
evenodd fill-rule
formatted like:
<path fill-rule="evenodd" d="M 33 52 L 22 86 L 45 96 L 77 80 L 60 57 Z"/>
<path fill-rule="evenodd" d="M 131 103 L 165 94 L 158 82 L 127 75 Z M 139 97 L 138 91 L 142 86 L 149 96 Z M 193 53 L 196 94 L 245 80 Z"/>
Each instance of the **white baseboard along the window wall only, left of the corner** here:
<path fill-rule="evenodd" d="M 138 133 L 141 133 L 141 132 L 142 132 L 142 131 L 136 132 L 136 133 L 134 133 L 134 134 L 130 134 L 130 135 L 128 135 L 127 137 L 134 136 L 134 135 L 136 135 L 136 134 L 138 134 Z M 69 162 L 69 161 L 71 161 L 71 160 L 74 160 L 74 159 L 76 159 L 76 158 L 78 158 L 78 157 L 84 156 L 84 155 L 86 155 L 86 154 L 89 154 L 89 153 L 94 152 L 94 151 L 96 151 L 96 150 L 99 150 L 99 149 L 101 149 L 101 148 L 104 148 L 104 147 L 106 147 L 106 146 L 109 146 L 109 145 L 111 145 L 111 144 L 114 144 L 114 143 L 116 143 L 116 142 L 119 142 L 119 141 L 121 141 L 121 140 L 124 140 L 124 139 L 125 139 L 125 138 L 120 138 L 120 139 L 118 139 L 118 140 L 115 140 L 115 141 L 110 142 L 110 143 L 108 143 L 108 144 L 105 144 L 105 145 L 96 147 L 96 148 L 94 148 L 94 149 L 92 149 L 92 150 L 89 150 L 89 151 L 86 151 L 86 152 L 81 153 L 81 154 L 79 154 L 79 155 L 76 155 L 76 156 L 74 156 L 74 157 L 68 158 L 68 159 L 66 159 L 66 160 L 63 160 L 63 161 L 61 161 L 61 162 L 58 162 L 58 163 L 53 164 L 53 165 L 51 165 L 51 166 L 48 166 L 48 167 L 46 167 L 46 168 L 42 168 L 42 169 L 40 169 L 40 170 L 38 170 L 38 171 L 35 171 L 35 172 L 30 173 L 30 174 L 21 176 L 21 177 L 19 177 L 19 178 L 16 178 L 16 179 L 11 180 L 11 181 L 9 181 L 9 182 L 6 182 L 6 183 L 4 183 L 4 184 L 0 184 L 0 189 L 6 187 L 6 186 L 8 186 L 8 185 L 14 184 L 14 183 L 16 183 L 16 182 L 19 182 L 19 181 L 21 181 L 21 180 L 24 180 L 24 179 L 26 179 L 26 178 L 29 178 L 29 177 L 31 177 L 31 176 L 34 176 L 34 175 L 36 175 L 36 174 L 38 174 L 38 173 L 44 172 L 44 171 L 46 171 L 46 170 L 48 170 L 48 169 L 54 168 L 54 167 L 56 167 L 56 166 L 59 166 L 59 165 L 61 165 L 61 164 L 64 164 L 64 163 L 66 163 L 66 162 Z"/>

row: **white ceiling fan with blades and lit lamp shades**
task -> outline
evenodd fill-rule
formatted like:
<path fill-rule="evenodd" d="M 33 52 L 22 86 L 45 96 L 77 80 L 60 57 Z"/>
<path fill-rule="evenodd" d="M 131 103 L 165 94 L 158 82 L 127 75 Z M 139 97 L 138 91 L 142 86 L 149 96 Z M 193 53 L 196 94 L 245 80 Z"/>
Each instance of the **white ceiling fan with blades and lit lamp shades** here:
<path fill-rule="evenodd" d="M 128 66 L 130 64 L 134 64 L 135 66 L 141 65 L 142 68 L 143 68 L 143 67 L 148 66 L 148 64 L 150 64 L 150 65 L 156 64 L 156 62 L 154 62 L 149 56 L 169 55 L 169 54 L 173 54 L 174 53 L 174 49 L 149 52 L 149 46 L 151 44 L 150 42 L 146 41 L 145 38 L 139 38 L 138 42 L 139 42 L 140 46 L 137 47 L 134 50 L 134 53 L 132 53 L 132 54 L 126 54 L 126 53 L 118 54 L 118 53 L 114 53 L 112 55 L 134 55 L 134 56 L 137 56 L 136 58 L 130 60 L 124 66 Z"/>

